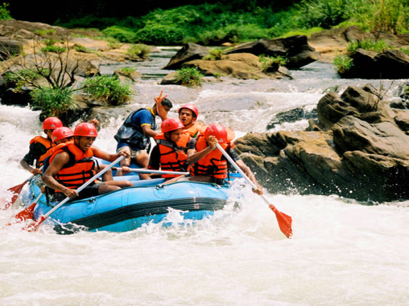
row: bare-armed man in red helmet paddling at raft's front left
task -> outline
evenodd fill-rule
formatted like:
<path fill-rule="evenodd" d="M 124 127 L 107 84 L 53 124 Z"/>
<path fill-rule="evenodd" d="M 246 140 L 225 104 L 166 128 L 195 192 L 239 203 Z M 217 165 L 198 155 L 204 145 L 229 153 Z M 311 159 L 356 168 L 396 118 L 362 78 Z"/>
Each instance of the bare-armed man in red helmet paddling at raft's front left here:
<path fill-rule="evenodd" d="M 74 130 L 74 141 L 64 143 L 50 157 L 42 179 L 49 187 L 47 190 L 49 201 L 61 201 L 64 195 L 71 199 L 81 199 L 133 186 L 129 181 L 113 182 L 112 172 L 108 170 L 102 175 L 104 182 L 93 183 L 77 193 L 76 189 L 91 179 L 95 171 L 106 167 L 98 165 L 93 159 L 94 156 L 109 162 L 113 162 L 119 156 L 127 157 L 126 152 L 109 154 L 93 146 L 97 136 L 98 132 L 93 124 L 79 123 Z"/>

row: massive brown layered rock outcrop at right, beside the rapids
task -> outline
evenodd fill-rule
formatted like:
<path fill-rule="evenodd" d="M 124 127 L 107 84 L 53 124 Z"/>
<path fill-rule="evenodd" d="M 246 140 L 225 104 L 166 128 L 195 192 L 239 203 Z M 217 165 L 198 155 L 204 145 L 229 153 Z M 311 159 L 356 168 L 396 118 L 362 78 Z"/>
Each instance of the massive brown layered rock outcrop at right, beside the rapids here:
<path fill-rule="evenodd" d="M 379 97 L 371 86 L 328 93 L 310 124 L 322 130 L 247 134 L 235 148 L 271 192 L 406 200 L 409 110 Z"/>

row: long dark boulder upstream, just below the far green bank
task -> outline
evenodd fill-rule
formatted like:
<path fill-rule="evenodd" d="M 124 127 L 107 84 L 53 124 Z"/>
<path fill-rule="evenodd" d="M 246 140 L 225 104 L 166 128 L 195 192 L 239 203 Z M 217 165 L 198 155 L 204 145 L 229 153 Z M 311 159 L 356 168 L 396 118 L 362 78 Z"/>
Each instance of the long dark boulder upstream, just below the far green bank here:
<path fill-rule="evenodd" d="M 256 56 L 282 56 L 288 59 L 287 68 L 300 68 L 320 58 L 308 44 L 307 37 L 295 35 L 287 38 L 259 39 L 226 50 L 226 54 L 251 53 Z"/>

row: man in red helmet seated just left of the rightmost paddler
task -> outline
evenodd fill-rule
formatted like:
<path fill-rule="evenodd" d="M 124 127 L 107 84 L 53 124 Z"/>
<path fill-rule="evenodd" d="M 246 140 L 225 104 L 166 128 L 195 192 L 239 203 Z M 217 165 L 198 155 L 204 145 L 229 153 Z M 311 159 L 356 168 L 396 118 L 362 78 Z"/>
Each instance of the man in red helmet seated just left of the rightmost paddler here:
<path fill-rule="evenodd" d="M 184 125 L 179 119 L 169 118 L 162 122 L 161 134 L 155 136 L 157 145 L 152 149 L 148 169 L 164 171 L 187 171 L 188 164 L 186 147 L 180 145 Z M 180 175 L 162 174 L 162 177 L 169 180 Z M 150 175 L 141 174 L 141 179 L 151 179 Z M 174 180 L 172 180 L 173 182 Z"/>

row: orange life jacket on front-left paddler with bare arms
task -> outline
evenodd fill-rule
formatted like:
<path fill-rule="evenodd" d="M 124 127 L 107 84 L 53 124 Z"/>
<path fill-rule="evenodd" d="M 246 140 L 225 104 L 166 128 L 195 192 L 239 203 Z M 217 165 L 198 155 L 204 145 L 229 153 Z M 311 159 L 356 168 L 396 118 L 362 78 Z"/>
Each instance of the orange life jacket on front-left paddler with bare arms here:
<path fill-rule="evenodd" d="M 83 152 L 74 142 L 66 142 L 50 157 L 50 164 L 56 155 L 61 152 L 67 152 L 70 160 L 54 176 L 58 183 L 70 189 L 77 189 L 94 176 L 95 161 L 93 159 L 94 152 L 91 148 Z"/>

